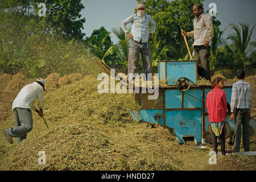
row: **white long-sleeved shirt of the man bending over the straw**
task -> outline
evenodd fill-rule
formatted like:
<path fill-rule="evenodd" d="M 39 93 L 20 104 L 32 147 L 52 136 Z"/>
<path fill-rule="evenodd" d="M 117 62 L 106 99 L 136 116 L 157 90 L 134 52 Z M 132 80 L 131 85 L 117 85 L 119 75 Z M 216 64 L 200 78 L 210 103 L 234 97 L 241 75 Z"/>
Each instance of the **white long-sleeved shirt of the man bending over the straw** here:
<path fill-rule="evenodd" d="M 38 107 L 44 107 L 44 89 L 37 82 L 33 82 L 32 84 L 28 84 L 24 86 L 18 96 L 13 101 L 13 109 L 15 107 L 27 108 L 31 110 L 35 110 L 36 106 L 34 105 L 36 99 L 38 100 Z"/>

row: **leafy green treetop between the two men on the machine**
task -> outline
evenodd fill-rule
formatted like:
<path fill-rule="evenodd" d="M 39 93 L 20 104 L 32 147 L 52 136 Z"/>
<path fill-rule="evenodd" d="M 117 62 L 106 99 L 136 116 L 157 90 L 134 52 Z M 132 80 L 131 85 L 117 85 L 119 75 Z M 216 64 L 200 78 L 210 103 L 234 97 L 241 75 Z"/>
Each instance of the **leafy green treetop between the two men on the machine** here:
<path fill-rule="evenodd" d="M 163 48 L 170 42 L 180 44 L 181 28 L 184 31 L 193 30 L 195 15 L 192 13 L 192 7 L 203 0 L 137 0 L 137 2 L 144 3 L 146 13 L 155 20 L 157 40 L 161 41 L 160 47 Z"/>

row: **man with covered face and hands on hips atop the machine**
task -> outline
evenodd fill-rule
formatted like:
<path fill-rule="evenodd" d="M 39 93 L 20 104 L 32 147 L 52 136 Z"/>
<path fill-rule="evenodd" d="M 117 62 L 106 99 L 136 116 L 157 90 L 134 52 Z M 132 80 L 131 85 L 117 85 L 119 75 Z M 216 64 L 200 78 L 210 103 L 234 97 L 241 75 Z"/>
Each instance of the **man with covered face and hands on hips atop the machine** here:
<path fill-rule="evenodd" d="M 145 6 L 142 3 L 137 5 L 137 14 L 133 14 L 123 20 L 121 26 L 126 35 L 131 39 L 129 56 L 128 56 L 128 73 L 138 73 L 138 61 L 141 53 L 143 63 L 143 73 L 151 73 L 152 61 L 150 44 L 148 43 L 152 38 L 152 34 L 155 31 L 155 21 L 150 15 L 144 13 Z M 126 24 L 131 23 L 131 34 L 126 28 Z M 151 30 L 149 33 L 148 23 L 151 24 Z M 130 78 L 129 78 L 130 79 Z"/>

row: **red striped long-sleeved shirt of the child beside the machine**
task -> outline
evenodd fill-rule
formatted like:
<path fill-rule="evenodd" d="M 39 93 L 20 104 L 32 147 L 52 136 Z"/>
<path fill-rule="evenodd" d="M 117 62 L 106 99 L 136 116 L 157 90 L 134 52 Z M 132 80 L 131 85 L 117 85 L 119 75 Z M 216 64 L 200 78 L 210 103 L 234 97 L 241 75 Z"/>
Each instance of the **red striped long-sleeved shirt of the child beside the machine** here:
<path fill-rule="evenodd" d="M 214 87 L 206 99 L 209 122 L 222 122 L 226 118 L 226 93 L 218 86 Z"/>

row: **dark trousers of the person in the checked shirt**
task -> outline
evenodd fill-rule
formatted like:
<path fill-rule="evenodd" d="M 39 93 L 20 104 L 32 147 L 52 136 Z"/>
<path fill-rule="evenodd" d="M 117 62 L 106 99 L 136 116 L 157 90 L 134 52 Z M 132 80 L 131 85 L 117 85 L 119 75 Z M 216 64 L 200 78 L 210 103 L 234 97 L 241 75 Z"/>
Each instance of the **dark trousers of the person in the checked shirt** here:
<path fill-rule="evenodd" d="M 235 131 L 233 152 L 240 152 L 241 135 L 243 139 L 243 148 L 245 152 L 250 151 L 250 133 L 249 133 L 249 109 L 236 109 L 235 111 Z"/>

